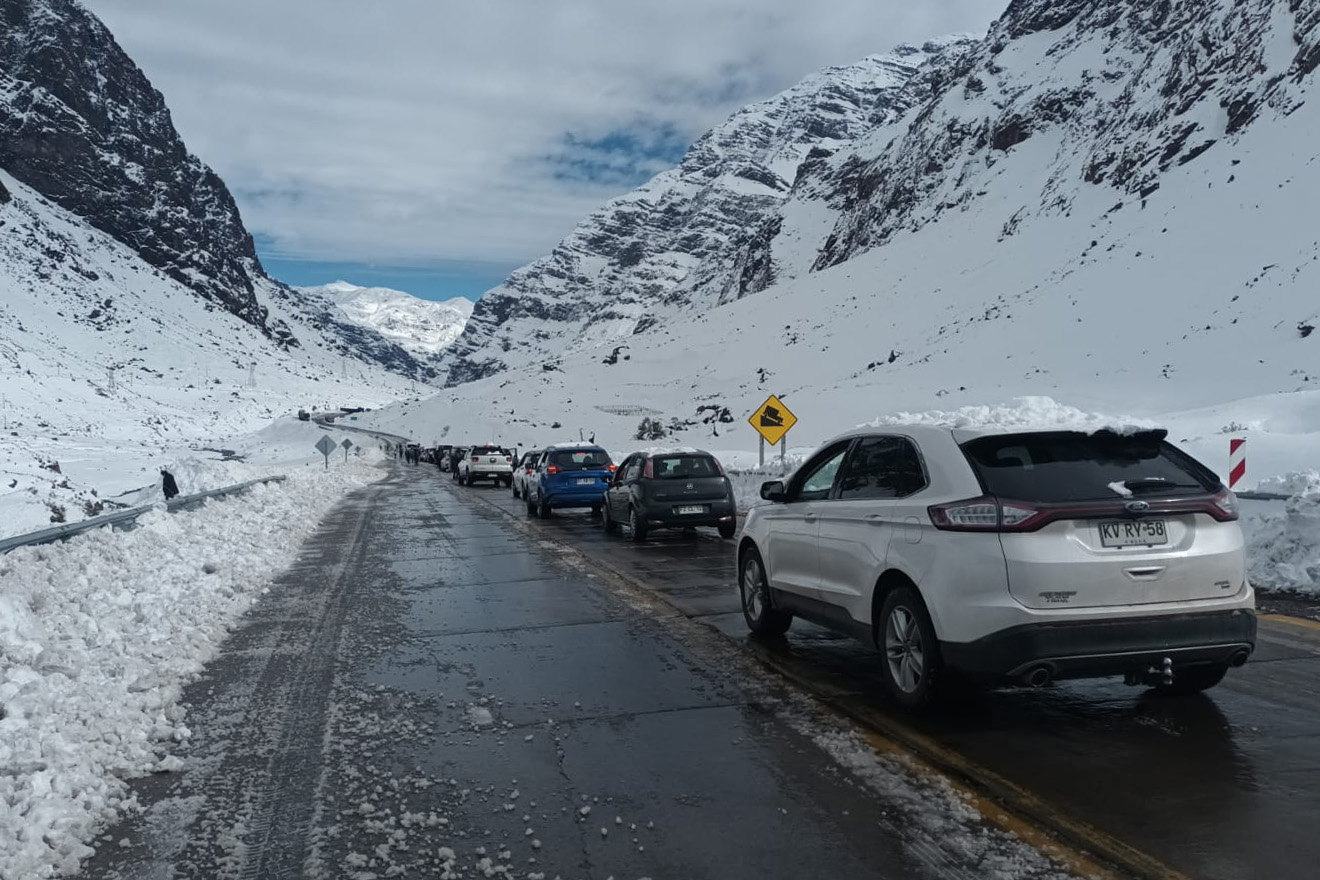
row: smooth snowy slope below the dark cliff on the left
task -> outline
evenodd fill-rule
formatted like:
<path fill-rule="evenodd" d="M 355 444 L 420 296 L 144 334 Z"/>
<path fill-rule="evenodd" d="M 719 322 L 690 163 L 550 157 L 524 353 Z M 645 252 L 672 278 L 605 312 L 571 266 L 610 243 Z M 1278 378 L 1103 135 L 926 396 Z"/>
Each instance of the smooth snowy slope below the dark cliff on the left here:
<path fill-rule="evenodd" d="M 286 310 L 288 289 L 253 285 L 304 339 L 282 348 L 3 172 L 0 186 L 0 536 L 102 512 L 300 406 L 409 396 Z"/>

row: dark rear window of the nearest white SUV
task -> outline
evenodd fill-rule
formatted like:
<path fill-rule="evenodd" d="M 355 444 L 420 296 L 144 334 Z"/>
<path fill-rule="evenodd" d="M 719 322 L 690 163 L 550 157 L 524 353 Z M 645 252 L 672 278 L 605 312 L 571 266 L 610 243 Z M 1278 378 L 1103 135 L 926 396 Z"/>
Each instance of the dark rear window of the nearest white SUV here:
<path fill-rule="evenodd" d="M 1152 495 L 1200 495 L 1220 480 L 1164 442 L 1164 431 L 1051 431 L 981 437 L 964 443 L 991 495 L 1022 501 L 1094 501 Z"/>

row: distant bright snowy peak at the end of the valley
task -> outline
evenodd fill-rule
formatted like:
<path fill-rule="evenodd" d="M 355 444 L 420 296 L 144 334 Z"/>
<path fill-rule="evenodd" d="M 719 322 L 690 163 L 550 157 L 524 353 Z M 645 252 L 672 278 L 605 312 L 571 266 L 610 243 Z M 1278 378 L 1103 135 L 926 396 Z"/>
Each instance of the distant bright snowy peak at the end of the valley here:
<path fill-rule="evenodd" d="M 473 301 L 463 297 L 433 302 L 401 290 L 359 288 L 347 281 L 300 290 L 327 298 L 352 323 L 424 358 L 440 354 L 458 339 L 473 314 Z"/>

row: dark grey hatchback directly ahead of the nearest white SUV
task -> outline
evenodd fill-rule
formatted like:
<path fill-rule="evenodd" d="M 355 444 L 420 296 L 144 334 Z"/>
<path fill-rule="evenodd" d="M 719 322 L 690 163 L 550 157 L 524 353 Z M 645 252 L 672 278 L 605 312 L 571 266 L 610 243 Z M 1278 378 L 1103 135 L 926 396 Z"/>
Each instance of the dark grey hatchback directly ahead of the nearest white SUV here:
<path fill-rule="evenodd" d="M 710 525 L 731 538 L 738 528 L 734 487 L 710 453 L 634 453 L 605 491 L 605 530 L 628 524 L 634 541 L 651 529 Z"/>

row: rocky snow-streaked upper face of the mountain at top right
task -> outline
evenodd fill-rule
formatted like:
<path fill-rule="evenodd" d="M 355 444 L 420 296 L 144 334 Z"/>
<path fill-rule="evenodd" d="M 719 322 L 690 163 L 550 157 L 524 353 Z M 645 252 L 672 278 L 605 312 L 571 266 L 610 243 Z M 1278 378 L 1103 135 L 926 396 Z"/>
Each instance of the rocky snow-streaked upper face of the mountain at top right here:
<path fill-rule="evenodd" d="M 1320 4 L 1303 0 L 1014 0 L 983 41 L 931 70 L 917 111 L 801 183 L 800 198 L 838 212 L 814 268 L 968 210 L 1010 153 L 1039 161 L 1040 186 L 1005 212 L 1005 235 L 1093 187 L 1144 201 L 1262 110 L 1299 106 L 1317 22 Z"/>

